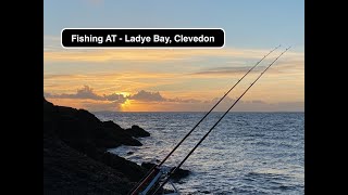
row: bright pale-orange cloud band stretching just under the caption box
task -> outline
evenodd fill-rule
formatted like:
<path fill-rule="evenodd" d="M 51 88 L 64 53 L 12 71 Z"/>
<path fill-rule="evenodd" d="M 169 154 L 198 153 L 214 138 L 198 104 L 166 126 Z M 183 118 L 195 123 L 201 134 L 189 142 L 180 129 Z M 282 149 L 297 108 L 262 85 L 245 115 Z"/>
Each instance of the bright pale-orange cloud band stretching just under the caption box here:
<path fill-rule="evenodd" d="M 63 50 L 60 43 L 58 44 L 57 38 L 47 36 L 44 47 L 44 60 L 46 62 L 142 62 L 152 64 L 169 61 L 204 61 L 207 57 L 223 57 L 234 61 L 240 58 L 259 60 L 269 52 L 270 49 L 239 48 L 223 48 L 219 50 Z M 303 53 L 301 52 L 289 51 L 287 55 L 291 58 L 303 58 Z"/>

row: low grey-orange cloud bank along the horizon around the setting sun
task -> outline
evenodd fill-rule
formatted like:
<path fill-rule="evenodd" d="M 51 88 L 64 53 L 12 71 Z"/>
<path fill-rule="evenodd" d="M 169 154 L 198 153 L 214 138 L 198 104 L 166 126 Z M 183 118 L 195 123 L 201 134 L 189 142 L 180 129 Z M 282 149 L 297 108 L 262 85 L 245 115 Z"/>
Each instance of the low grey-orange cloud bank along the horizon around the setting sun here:
<path fill-rule="evenodd" d="M 51 94 L 44 93 L 46 99 L 49 99 L 58 105 L 66 105 L 89 110 L 172 110 L 172 112 L 206 112 L 209 110 L 221 98 L 211 100 L 198 99 L 179 99 L 164 98 L 160 92 L 151 92 L 140 90 L 135 94 L 103 94 L 99 95 L 94 90 L 84 86 L 76 93 Z M 225 112 L 235 103 L 237 98 L 226 96 L 215 112 Z M 148 104 L 151 102 L 151 104 Z M 243 101 L 240 100 L 232 112 L 303 112 L 303 102 L 279 102 L 266 103 L 261 100 Z"/>

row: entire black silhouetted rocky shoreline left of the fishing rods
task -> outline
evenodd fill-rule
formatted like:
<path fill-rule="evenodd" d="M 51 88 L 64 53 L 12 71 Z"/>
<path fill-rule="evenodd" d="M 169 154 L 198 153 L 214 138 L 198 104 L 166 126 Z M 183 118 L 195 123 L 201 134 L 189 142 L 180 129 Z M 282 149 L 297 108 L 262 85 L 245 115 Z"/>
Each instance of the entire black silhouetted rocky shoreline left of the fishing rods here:
<path fill-rule="evenodd" d="M 44 194 L 127 194 L 148 167 L 107 150 L 140 146 L 136 138 L 149 135 L 138 126 L 123 129 L 85 109 L 44 99 Z"/>

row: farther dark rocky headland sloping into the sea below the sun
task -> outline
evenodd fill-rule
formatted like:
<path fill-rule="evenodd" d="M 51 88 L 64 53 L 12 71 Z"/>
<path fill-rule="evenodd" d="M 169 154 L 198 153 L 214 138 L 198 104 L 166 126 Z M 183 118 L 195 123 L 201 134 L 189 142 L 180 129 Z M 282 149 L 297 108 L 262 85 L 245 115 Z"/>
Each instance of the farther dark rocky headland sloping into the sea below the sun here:
<path fill-rule="evenodd" d="M 50 116 L 54 117 L 51 119 L 54 119 L 60 139 L 80 152 L 88 153 L 86 150 L 91 147 L 111 148 L 122 144 L 142 145 L 119 125 L 113 121 L 102 122 L 85 109 L 53 106 L 49 103 L 45 105 L 44 112 L 53 112 Z"/>

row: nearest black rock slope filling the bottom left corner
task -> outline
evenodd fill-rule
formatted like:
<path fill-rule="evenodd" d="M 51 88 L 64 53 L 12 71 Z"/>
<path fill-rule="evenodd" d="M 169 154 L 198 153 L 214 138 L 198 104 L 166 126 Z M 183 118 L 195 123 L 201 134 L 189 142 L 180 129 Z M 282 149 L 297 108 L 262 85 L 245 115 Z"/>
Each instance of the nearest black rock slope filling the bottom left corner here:
<path fill-rule="evenodd" d="M 134 185 L 127 174 L 72 148 L 54 133 L 44 133 L 44 194 L 123 195 Z"/>

